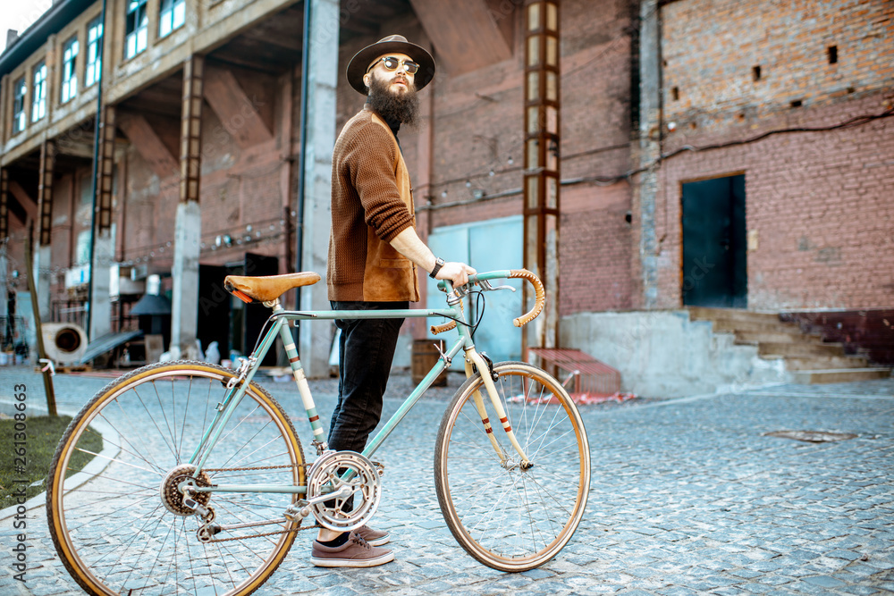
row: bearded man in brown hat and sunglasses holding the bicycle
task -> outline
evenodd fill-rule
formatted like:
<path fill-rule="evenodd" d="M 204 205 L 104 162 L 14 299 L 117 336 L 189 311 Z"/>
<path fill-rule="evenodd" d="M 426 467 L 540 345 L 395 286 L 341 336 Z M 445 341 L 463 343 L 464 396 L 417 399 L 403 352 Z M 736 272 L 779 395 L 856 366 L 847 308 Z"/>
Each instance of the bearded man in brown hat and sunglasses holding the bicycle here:
<path fill-rule="evenodd" d="M 468 264 L 434 256 L 416 233 L 407 165 L 397 139 L 417 116 L 417 91 L 434 78 L 434 58 L 400 35 L 351 58 L 350 86 L 367 96 L 333 149 L 332 235 L 326 278 L 333 310 L 392 310 L 419 300 L 417 267 L 436 280 L 464 284 Z M 336 319 L 339 397 L 330 449 L 362 452 L 382 416 L 382 397 L 403 319 Z M 394 558 L 387 532 L 321 529 L 311 562 L 319 567 L 374 567 Z"/>

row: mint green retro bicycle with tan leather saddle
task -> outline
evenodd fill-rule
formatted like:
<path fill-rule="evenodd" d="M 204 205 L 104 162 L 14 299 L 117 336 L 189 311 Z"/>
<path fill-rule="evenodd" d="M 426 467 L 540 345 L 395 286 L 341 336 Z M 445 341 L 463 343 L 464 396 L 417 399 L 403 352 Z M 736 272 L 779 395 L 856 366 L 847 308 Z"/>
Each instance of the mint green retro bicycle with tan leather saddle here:
<path fill-rule="evenodd" d="M 441 282 L 445 308 L 392 311 L 283 309 L 283 293 L 316 283 L 316 273 L 226 278 L 227 290 L 273 310 L 238 370 L 188 361 L 139 368 L 100 390 L 64 433 L 46 491 L 47 522 L 63 564 L 92 594 L 257 590 L 300 530 L 348 531 L 367 523 L 381 496 L 376 450 L 437 375 L 463 357 L 468 378 L 443 414 L 434 447 L 444 521 L 486 566 L 515 572 L 543 565 L 584 515 L 589 448 L 560 382 L 523 362 L 492 363 L 475 348 L 463 299 L 509 288 L 490 283 L 505 278 L 534 285 L 534 308 L 514 321 L 530 322 L 543 309 L 544 289 L 526 270 L 478 273 L 456 289 Z M 457 339 L 363 453 L 328 449 L 289 326 L 428 316 L 451 319 L 432 331 L 455 328 Z M 276 338 L 298 384 L 313 462 L 290 416 L 254 382 Z M 73 473 L 76 454 L 92 460 Z M 302 525 L 307 518 L 316 523 Z"/>

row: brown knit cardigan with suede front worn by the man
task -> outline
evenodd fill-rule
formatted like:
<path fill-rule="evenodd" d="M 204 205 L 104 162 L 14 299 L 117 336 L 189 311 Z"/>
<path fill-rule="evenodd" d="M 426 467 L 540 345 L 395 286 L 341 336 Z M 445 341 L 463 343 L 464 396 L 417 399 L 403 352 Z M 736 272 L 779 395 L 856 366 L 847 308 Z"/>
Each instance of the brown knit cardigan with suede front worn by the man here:
<path fill-rule="evenodd" d="M 389 242 L 416 225 L 409 172 L 388 125 L 364 107 L 335 141 L 329 299 L 419 300 L 416 265 Z"/>

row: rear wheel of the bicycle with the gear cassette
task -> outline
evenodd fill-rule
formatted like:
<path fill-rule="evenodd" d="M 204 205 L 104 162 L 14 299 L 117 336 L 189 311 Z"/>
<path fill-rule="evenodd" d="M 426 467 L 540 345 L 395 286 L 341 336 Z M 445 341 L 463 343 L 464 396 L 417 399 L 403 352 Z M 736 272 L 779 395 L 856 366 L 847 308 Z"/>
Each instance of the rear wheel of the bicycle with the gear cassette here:
<path fill-rule="evenodd" d="M 215 523 L 275 520 L 214 536 L 237 537 L 230 541 L 199 541 L 198 516 L 178 514 L 182 503 L 165 505 L 178 498 L 164 497 L 164 483 L 170 487 L 171 478 L 181 477 L 170 470 L 190 458 L 234 376 L 201 362 L 148 365 L 99 390 L 69 424 L 50 467 L 46 516 L 59 557 L 86 592 L 244 595 L 283 561 L 299 526 L 283 516 L 294 494 L 210 493 Z M 99 455 L 86 447 L 97 432 L 104 446 Z M 67 473 L 80 451 L 93 460 L 79 474 Z M 213 484 L 303 485 L 303 464 L 291 420 L 252 382 L 203 474 Z M 274 533 L 259 535 L 268 532 Z"/>

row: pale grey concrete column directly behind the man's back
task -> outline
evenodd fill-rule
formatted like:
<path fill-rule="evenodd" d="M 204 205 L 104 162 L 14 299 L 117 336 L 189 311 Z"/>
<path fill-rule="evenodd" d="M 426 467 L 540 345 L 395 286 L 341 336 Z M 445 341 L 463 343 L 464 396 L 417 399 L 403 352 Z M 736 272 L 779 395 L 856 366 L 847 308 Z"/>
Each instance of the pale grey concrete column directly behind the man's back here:
<path fill-rule="evenodd" d="M 301 308 L 327 310 L 326 259 L 332 227 L 332 151 L 335 144 L 335 86 L 338 83 L 339 3 L 306 0 L 310 11 L 308 60 L 308 118 L 304 170 L 304 222 L 302 271 L 315 271 L 323 280 L 301 289 Z M 301 364 L 310 377 L 329 374 L 329 348 L 333 325 L 303 323 L 299 332 Z"/>

